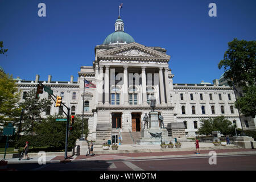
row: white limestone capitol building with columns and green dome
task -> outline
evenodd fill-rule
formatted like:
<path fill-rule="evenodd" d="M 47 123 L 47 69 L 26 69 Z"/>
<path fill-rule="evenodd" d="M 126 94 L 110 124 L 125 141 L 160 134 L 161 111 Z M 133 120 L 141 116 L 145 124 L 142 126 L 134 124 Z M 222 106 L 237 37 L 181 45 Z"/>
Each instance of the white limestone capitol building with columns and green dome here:
<path fill-rule="evenodd" d="M 139 133 L 143 130 L 143 117 L 151 111 L 150 97 L 156 100 L 155 111 L 162 114 L 164 126 L 168 123 L 183 123 L 186 137 L 195 137 L 200 119 L 224 115 L 241 128 L 233 88 L 221 77 L 213 83 L 178 84 L 169 67 L 171 56 L 162 47 L 147 47 L 135 42 L 125 32 L 121 18 L 115 20 L 114 32 L 101 45 L 94 48 L 95 59 L 78 71 L 77 81 L 22 80 L 16 78 L 22 98 L 39 82 L 49 86 L 55 96 L 63 97 L 63 103 L 71 108 L 71 114 L 88 122 L 88 140 L 106 142 L 117 140 L 122 133 Z M 96 84 L 96 88 L 85 87 L 84 80 Z M 48 98 L 47 92 L 40 98 Z M 47 115 L 63 112 L 52 103 L 43 113 Z M 255 122 L 242 118 L 243 129 L 255 129 Z"/>

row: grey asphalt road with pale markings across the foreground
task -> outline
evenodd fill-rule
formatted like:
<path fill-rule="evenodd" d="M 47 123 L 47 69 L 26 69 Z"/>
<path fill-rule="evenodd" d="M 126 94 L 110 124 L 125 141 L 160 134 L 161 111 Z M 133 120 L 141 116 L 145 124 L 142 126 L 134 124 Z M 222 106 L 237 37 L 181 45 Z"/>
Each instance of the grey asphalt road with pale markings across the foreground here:
<path fill-rule="evenodd" d="M 217 156 L 217 164 L 209 164 L 210 156 L 155 158 L 140 160 L 92 160 L 69 163 L 8 164 L 17 171 L 255 171 L 256 155 Z"/>

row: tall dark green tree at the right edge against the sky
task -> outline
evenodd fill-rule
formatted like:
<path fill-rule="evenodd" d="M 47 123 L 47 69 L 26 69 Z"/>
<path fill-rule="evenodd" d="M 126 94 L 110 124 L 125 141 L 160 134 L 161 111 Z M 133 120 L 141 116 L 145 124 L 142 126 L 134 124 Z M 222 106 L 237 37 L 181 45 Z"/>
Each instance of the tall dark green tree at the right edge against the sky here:
<path fill-rule="evenodd" d="M 235 104 L 236 108 L 245 116 L 255 117 L 256 41 L 234 39 L 228 46 L 218 68 L 224 67 L 224 78 L 229 86 L 237 86 L 243 92 Z"/>

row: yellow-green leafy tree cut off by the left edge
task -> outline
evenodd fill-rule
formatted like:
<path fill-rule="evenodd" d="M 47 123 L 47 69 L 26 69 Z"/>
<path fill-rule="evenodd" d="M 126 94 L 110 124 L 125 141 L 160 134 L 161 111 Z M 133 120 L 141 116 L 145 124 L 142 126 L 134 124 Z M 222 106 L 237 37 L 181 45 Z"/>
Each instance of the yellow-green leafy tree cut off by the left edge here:
<path fill-rule="evenodd" d="M 20 92 L 13 77 L 0 71 L 0 126 L 17 121 Z"/>

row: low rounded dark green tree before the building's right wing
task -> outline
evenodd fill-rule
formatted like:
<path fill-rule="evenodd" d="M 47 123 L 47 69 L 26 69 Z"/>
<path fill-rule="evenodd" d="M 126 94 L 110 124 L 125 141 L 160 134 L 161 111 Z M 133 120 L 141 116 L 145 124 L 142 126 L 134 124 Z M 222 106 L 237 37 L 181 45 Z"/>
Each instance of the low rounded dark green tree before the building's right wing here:
<path fill-rule="evenodd" d="M 214 119 L 201 119 L 201 126 L 198 131 L 201 135 L 210 135 L 213 131 L 220 131 L 224 135 L 234 135 L 235 126 L 232 125 L 231 121 L 221 115 Z"/>

